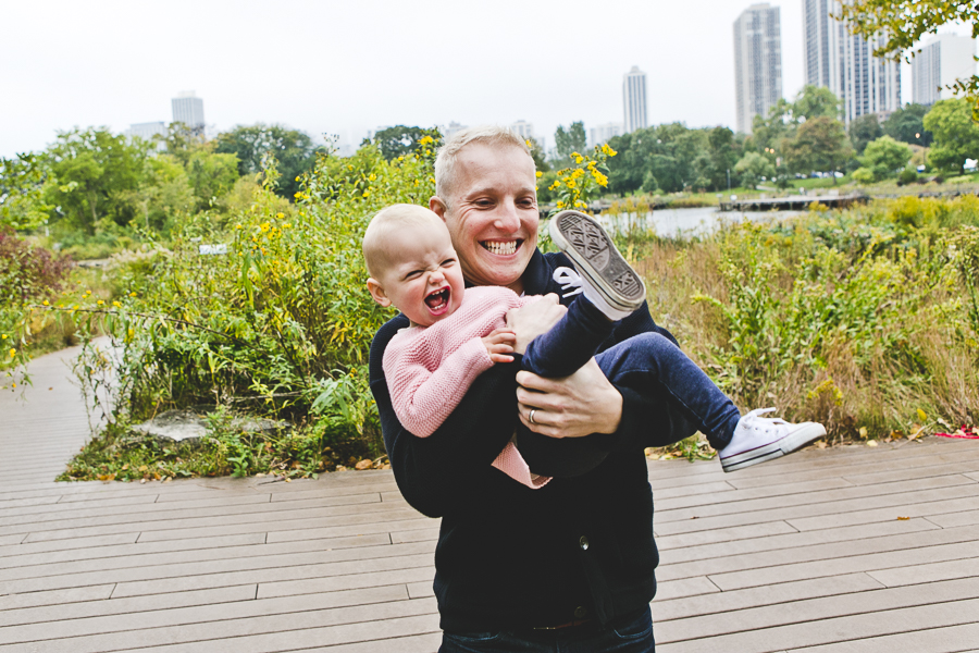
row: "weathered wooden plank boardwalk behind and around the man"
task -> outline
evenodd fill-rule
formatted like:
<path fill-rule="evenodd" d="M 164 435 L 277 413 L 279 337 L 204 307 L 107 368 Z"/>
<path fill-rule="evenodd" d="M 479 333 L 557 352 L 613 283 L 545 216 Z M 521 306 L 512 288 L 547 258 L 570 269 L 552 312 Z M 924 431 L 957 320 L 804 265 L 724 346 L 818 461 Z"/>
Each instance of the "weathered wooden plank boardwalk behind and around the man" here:
<path fill-rule="evenodd" d="M 0 395 L 0 653 L 437 649 L 437 521 L 391 472 L 54 483 L 85 414 L 58 356 L 34 372 Z M 649 479 L 657 651 L 979 651 L 979 443 Z"/>

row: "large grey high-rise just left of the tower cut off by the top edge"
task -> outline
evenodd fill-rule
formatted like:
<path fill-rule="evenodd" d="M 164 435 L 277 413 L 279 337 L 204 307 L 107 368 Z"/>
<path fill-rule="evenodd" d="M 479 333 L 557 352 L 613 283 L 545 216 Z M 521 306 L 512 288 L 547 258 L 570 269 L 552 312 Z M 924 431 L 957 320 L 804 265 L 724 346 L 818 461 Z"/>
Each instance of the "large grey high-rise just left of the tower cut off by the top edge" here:
<path fill-rule="evenodd" d="M 752 133 L 755 115 L 782 97 L 782 37 L 778 7 L 753 4 L 734 21 L 734 90 L 738 131 Z"/>

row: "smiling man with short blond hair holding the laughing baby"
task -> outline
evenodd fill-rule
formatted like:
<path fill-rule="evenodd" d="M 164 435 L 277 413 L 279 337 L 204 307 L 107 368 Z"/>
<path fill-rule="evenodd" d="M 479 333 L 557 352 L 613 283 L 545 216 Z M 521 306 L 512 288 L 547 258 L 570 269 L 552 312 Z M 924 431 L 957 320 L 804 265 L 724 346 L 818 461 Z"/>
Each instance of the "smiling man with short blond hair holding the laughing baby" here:
<path fill-rule="evenodd" d="M 500 127 L 460 132 L 439 150 L 435 178 L 430 208 L 449 229 L 467 283 L 561 293 L 554 271 L 570 261 L 536 249 L 535 170 L 519 137 Z M 513 311 L 517 349 L 562 310 L 552 296 Z M 371 390 L 401 493 L 442 517 L 434 584 L 441 651 L 553 651 L 558 642 L 653 651 L 648 604 L 658 554 L 643 448 L 693 428 L 642 381 L 612 386 L 594 360 L 571 377 L 543 379 L 520 371 L 518 357 L 482 373 L 435 433 L 416 438 L 395 417 L 381 365 L 407 325 L 398 316 L 377 332 Z M 672 337 L 646 307 L 622 320 L 604 348 L 649 331 Z M 543 489 L 491 466 L 518 419 L 530 430 L 521 430 L 518 446 L 531 469 L 555 477 Z"/>

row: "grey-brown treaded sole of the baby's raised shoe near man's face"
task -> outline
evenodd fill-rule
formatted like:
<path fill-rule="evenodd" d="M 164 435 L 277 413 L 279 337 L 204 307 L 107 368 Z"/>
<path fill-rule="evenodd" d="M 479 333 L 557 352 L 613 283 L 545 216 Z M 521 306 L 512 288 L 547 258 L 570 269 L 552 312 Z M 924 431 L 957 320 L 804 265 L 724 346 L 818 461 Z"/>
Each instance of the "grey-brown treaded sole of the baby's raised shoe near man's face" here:
<path fill-rule="evenodd" d="M 643 305 L 646 285 L 594 218 L 579 211 L 561 211 L 550 220 L 548 231 L 579 274 L 610 306 L 633 311 Z"/>

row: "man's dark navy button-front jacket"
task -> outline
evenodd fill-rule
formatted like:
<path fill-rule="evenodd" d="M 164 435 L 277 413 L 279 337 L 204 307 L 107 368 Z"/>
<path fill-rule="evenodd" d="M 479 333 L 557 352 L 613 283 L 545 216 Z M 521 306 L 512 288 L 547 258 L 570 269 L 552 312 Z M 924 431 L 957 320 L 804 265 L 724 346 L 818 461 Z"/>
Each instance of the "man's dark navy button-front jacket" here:
<path fill-rule="evenodd" d="M 570 264 L 562 254 L 535 251 L 525 293 L 560 296 L 552 275 Z M 643 448 L 690 435 L 685 420 L 650 389 L 617 386 L 623 406 L 614 434 L 554 440 L 520 432 L 531 469 L 555 477 L 531 490 L 491 466 L 519 423 L 520 357 L 480 374 L 435 433 L 416 438 L 395 416 L 382 368 L 387 343 L 406 326 L 399 315 L 374 336 L 371 391 L 401 494 L 421 513 L 442 517 L 434 586 L 442 628 L 512 630 L 582 615 L 606 623 L 644 608 L 656 593 L 659 555 Z M 650 331 L 672 340 L 644 305 L 619 322 L 603 349 Z"/>

